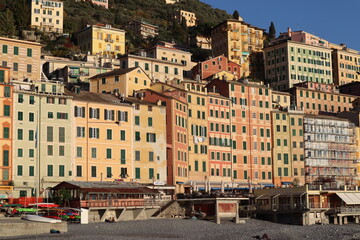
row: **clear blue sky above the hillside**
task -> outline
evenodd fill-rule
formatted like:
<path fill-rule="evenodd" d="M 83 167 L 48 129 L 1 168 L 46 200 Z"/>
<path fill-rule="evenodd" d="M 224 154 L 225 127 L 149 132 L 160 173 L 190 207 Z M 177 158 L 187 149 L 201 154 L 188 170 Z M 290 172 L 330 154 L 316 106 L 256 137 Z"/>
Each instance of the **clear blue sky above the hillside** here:
<path fill-rule="evenodd" d="M 360 51 L 360 0 L 200 0 L 268 31 L 304 30 Z"/>

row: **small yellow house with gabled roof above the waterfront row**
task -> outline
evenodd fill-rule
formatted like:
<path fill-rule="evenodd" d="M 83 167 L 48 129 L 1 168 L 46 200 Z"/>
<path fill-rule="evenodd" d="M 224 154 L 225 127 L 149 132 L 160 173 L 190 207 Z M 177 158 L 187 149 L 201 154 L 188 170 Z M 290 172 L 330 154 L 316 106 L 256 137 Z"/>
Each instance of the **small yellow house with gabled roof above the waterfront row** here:
<path fill-rule="evenodd" d="M 134 91 L 150 88 L 151 79 L 141 67 L 116 69 L 90 78 L 90 91 L 133 96 Z"/>

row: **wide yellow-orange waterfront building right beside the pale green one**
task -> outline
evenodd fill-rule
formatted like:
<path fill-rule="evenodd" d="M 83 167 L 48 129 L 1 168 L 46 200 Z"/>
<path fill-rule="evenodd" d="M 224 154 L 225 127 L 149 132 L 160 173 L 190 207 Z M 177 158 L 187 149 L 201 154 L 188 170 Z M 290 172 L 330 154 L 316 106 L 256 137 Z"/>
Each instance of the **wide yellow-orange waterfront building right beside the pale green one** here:
<path fill-rule="evenodd" d="M 133 107 L 111 94 L 67 94 L 74 98 L 74 179 L 134 179 Z"/>

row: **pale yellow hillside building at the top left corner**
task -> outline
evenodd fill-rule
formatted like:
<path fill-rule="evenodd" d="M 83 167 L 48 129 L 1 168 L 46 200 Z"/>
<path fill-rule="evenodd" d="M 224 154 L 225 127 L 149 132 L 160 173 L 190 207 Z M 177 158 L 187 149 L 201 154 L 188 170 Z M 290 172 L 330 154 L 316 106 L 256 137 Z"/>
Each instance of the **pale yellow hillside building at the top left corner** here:
<path fill-rule="evenodd" d="M 60 0 L 31 0 L 31 27 L 63 32 L 64 4 Z"/>

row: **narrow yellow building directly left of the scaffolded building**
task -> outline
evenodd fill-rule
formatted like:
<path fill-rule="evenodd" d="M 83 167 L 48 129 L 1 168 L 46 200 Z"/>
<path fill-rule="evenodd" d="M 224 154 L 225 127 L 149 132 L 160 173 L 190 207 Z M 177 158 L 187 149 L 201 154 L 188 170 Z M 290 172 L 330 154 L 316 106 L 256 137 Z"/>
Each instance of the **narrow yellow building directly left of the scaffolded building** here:
<path fill-rule="evenodd" d="M 304 112 L 296 108 L 274 109 L 272 159 L 274 185 L 304 185 Z"/>

